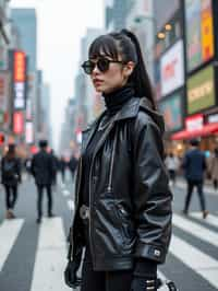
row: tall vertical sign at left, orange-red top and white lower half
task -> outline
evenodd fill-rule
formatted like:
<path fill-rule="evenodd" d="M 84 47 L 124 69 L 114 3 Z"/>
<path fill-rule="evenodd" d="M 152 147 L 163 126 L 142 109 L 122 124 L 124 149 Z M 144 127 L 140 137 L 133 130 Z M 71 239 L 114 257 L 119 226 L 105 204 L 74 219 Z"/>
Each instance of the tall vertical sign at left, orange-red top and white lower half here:
<path fill-rule="evenodd" d="M 14 109 L 25 108 L 26 56 L 23 51 L 13 53 Z"/>

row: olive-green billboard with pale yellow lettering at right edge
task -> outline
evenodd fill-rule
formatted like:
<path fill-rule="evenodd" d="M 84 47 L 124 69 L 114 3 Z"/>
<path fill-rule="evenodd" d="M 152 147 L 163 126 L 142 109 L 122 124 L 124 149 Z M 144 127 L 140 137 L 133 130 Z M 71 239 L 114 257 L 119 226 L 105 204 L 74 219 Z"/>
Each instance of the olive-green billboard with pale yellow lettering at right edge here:
<path fill-rule="evenodd" d="M 214 68 L 208 66 L 187 79 L 187 113 L 196 113 L 215 105 Z"/>

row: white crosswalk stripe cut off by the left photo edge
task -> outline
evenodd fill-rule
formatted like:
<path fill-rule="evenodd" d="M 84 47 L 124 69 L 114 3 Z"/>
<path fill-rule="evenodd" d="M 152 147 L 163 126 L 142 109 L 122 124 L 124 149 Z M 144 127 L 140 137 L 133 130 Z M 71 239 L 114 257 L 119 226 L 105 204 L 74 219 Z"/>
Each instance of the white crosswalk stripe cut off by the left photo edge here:
<path fill-rule="evenodd" d="M 0 225 L 0 271 L 23 226 L 23 219 L 4 220 Z"/>

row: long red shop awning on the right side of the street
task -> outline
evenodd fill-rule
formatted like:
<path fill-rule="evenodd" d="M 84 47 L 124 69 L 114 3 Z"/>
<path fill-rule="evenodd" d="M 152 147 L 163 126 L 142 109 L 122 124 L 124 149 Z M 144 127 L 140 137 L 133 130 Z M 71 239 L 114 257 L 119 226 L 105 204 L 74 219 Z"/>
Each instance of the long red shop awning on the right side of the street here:
<path fill-rule="evenodd" d="M 181 130 L 171 136 L 172 140 L 191 139 L 197 137 L 206 137 L 218 132 L 218 123 L 205 125 L 201 129 Z"/>

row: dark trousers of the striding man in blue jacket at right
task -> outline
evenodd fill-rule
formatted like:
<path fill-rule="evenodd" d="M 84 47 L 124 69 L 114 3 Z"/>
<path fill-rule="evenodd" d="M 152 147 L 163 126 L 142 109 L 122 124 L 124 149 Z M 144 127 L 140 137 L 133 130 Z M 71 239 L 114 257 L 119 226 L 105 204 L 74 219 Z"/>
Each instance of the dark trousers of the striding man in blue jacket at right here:
<path fill-rule="evenodd" d="M 190 201 L 192 198 L 192 193 L 194 187 L 196 186 L 197 188 L 197 194 L 199 197 L 199 203 L 201 203 L 201 209 L 202 211 L 205 211 L 206 206 L 205 206 L 205 196 L 203 193 L 203 181 L 191 181 L 187 179 L 187 195 L 186 195 L 186 199 L 185 199 L 185 206 L 184 206 L 184 211 L 186 212 L 189 210 L 189 206 L 190 206 Z"/>

